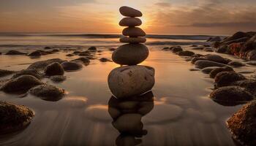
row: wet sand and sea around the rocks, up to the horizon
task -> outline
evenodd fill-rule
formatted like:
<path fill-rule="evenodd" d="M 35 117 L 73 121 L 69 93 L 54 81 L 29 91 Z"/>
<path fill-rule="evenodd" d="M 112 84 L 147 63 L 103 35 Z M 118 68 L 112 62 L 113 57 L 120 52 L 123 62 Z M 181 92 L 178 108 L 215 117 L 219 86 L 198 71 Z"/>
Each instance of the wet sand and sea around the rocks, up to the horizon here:
<path fill-rule="evenodd" d="M 108 74 L 116 67 L 111 60 L 111 48 L 120 45 L 114 34 L 2 34 L 0 35 L 1 69 L 19 71 L 36 61 L 60 58 L 71 61 L 78 55 L 74 51 L 97 47 L 89 65 L 75 72 L 65 72 L 63 82 L 43 78 L 42 82 L 65 90 L 58 101 L 45 101 L 27 95 L 23 98 L 0 92 L 1 101 L 22 104 L 34 112 L 30 125 L 23 131 L 0 137 L 0 145 L 115 145 L 119 132 L 113 127 L 108 108 L 112 94 L 108 88 Z M 242 105 L 223 106 L 209 98 L 214 80 L 208 74 L 191 71 L 195 66 L 182 57 L 162 48 L 179 45 L 192 50 L 192 45 L 208 45 L 205 35 L 148 35 L 146 45 L 149 56 L 141 65 L 155 69 L 152 89 L 154 107 L 142 117 L 147 134 L 141 137 L 142 145 L 236 145 L 226 120 Z M 222 36 L 225 37 L 225 36 Z M 31 53 L 34 50 L 59 50 L 49 55 L 4 55 L 9 50 Z M 233 61 L 233 55 L 192 50 L 194 53 L 218 54 Z M 252 77 L 255 66 L 234 68 L 245 77 Z M 12 75 L 0 77 L 6 80 Z M 133 137 L 135 138 L 135 137 Z"/>

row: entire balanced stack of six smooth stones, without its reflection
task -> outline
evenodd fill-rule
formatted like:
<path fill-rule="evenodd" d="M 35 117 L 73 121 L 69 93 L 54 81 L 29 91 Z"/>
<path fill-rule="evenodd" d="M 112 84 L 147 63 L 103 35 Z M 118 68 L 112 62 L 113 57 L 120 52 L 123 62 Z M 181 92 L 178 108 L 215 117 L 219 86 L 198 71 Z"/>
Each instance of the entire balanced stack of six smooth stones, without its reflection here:
<path fill-rule="evenodd" d="M 119 9 L 123 18 L 119 25 L 124 28 L 120 42 L 127 43 L 118 47 L 112 55 L 112 59 L 121 67 L 113 69 L 108 76 L 110 91 L 117 98 L 129 98 L 138 96 L 148 91 L 154 86 L 154 68 L 150 66 L 138 66 L 148 58 L 148 47 L 143 45 L 146 42 L 146 33 L 137 26 L 142 21 L 137 18 L 142 13 L 131 7 L 121 7 Z M 123 66 L 124 65 L 124 66 Z"/>

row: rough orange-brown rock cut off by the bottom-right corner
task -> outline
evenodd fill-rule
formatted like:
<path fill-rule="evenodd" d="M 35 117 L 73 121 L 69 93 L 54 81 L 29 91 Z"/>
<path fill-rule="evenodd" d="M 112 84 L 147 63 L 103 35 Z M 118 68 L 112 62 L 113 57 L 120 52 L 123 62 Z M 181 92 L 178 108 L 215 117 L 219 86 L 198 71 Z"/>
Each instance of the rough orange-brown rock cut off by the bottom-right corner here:
<path fill-rule="evenodd" d="M 256 101 L 246 104 L 227 120 L 227 127 L 241 145 L 256 145 Z"/>

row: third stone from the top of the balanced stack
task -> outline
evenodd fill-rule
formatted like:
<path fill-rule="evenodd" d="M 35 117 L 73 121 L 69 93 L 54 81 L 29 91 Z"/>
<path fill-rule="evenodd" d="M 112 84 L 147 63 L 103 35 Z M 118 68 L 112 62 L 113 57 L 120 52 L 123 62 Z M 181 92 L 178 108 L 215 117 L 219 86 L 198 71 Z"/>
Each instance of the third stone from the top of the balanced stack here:
<path fill-rule="evenodd" d="M 128 27 L 124 28 L 122 34 L 124 36 L 129 36 L 129 37 L 145 37 L 146 33 L 138 27 Z"/>

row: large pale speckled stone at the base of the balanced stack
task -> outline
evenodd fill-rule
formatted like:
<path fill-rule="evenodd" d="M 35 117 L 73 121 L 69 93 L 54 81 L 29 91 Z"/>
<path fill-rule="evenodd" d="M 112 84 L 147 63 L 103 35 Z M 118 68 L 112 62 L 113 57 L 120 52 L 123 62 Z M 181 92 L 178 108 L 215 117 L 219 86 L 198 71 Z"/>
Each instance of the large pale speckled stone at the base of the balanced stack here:
<path fill-rule="evenodd" d="M 150 91 L 154 86 L 154 68 L 123 66 L 108 75 L 108 86 L 117 98 L 128 98 Z"/>

